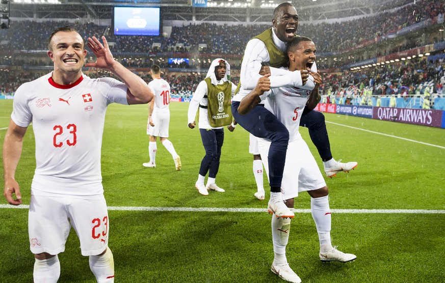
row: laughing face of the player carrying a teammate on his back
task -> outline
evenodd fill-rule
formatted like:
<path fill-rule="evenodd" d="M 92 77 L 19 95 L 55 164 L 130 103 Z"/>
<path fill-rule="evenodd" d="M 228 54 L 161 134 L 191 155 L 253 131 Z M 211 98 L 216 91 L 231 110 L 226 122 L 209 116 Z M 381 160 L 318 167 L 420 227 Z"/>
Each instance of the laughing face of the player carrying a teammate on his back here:
<path fill-rule="evenodd" d="M 289 70 L 310 70 L 317 58 L 315 43 L 312 41 L 300 41 L 294 47 L 289 49 Z"/>

